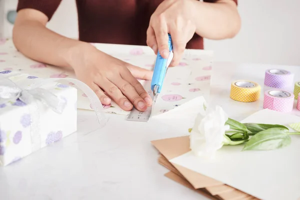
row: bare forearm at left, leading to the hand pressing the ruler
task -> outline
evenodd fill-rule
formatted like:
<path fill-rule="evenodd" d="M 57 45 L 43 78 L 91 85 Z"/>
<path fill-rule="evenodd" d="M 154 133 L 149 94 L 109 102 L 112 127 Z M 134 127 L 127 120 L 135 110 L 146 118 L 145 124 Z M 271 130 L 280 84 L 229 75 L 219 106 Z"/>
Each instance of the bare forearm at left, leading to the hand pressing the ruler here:
<path fill-rule="evenodd" d="M 41 22 L 26 20 L 16 22 L 13 28 L 15 47 L 27 57 L 56 66 L 71 67 L 72 58 L 84 48 L 92 48 L 88 43 L 59 35 Z"/>

